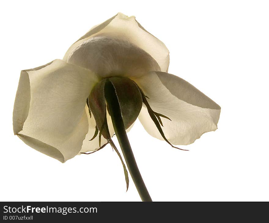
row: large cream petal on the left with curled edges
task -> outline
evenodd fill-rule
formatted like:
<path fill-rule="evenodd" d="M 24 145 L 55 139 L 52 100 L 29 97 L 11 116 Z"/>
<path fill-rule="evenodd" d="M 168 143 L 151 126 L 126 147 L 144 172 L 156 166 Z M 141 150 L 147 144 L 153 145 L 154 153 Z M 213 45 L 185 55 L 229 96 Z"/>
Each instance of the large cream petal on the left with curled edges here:
<path fill-rule="evenodd" d="M 61 162 L 74 157 L 88 132 L 85 104 L 97 76 L 63 60 L 21 71 L 13 130 L 36 150 Z"/>

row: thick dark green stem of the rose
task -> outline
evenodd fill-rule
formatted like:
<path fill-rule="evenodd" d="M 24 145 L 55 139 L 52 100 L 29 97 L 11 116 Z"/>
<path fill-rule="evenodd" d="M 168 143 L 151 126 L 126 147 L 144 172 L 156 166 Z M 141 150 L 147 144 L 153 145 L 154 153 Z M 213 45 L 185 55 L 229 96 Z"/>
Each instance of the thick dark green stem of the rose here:
<path fill-rule="evenodd" d="M 138 166 L 135 162 L 135 157 L 124 128 L 120 104 L 114 86 L 110 81 L 107 81 L 105 84 L 105 98 L 108 104 L 109 113 L 112 119 L 117 139 L 120 144 L 120 148 L 123 152 L 123 156 L 127 163 L 128 170 L 135 183 L 139 196 L 142 201 L 152 201 L 151 197 L 149 196 L 149 192 L 146 188 L 146 185 L 142 179 L 142 176 L 138 170 Z"/>

